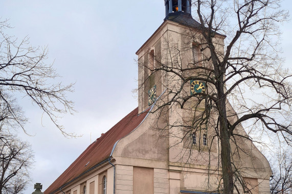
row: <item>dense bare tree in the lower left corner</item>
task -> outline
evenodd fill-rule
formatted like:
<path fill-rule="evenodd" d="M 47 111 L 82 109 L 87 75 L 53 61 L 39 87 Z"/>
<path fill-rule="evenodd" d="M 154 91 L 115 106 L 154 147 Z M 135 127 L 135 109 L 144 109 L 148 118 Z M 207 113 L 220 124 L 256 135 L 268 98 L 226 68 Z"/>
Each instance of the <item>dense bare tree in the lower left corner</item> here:
<path fill-rule="evenodd" d="M 31 182 L 34 156 L 28 142 L 0 132 L 0 194 L 22 193 Z"/>

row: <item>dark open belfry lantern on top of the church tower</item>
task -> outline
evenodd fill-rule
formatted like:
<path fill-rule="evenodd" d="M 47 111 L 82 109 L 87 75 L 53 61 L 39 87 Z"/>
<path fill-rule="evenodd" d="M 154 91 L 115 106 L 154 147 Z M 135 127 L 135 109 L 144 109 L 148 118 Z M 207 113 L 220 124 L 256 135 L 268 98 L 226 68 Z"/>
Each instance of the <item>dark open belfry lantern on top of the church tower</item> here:
<path fill-rule="evenodd" d="M 165 17 L 173 12 L 185 12 L 191 14 L 191 0 L 164 0 Z"/>

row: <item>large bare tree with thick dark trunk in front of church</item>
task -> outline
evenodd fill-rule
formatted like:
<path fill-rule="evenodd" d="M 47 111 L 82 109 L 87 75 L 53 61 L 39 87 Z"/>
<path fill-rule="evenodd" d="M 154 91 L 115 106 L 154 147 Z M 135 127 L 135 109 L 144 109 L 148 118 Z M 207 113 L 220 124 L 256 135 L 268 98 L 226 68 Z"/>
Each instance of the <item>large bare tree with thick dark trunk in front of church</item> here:
<path fill-rule="evenodd" d="M 153 128 L 167 130 L 170 137 L 178 138 L 177 144 L 194 134 L 207 134 L 208 166 L 217 159 L 222 169 L 223 188 L 218 186 L 217 191 L 241 193 L 239 184 L 243 192 L 251 192 L 239 164 L 244 160 L 241 153 L 252 154 L 241 145 L 278 137 L 292 143 L 292 75 L 278 55 L 278 23 L 288 14 L 278 0 L 197 0 L 193 6 L 199 25 L 182 32 L 181 43 L 165 37 L 164 50 L 152 55 L 154 64 L 148 58 L 139 60 L 147 78 L 140 85 L 144 89 L 140 95 L 147 95 L 154 82 L 162 81 L 167 94 L 156 102 L 153 112 L 181 118 L 166 120 L 166 126 L 157 122 Z M 218 45 L 223 44 L 220 49 Z M 195 60 L 187 58 L 194 48 Z M 193 81 L 199 82 L 190 92 Z M 240 132 L 241 126 L 246 133 Z M 212 153 L 215 141 L 218 156 Z M 188 142 L 192 147 L 192 141 Z M 191 153 L 187 154 L 189 161 Z"/>

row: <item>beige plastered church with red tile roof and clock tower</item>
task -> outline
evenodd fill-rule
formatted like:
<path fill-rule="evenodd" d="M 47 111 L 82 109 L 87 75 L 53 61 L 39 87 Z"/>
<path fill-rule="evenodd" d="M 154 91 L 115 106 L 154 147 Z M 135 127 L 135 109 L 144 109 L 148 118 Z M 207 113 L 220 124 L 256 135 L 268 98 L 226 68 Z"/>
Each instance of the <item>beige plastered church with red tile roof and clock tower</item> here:
<path fill-rule="evenodd" d="M 174 91 L 181 86 L 173 66 L 187 69 L 204 65 L 200 61 L 208 57 L 208 50 L 199 46 L 201 25 L 191 16 L 191 0 L 164 1 L 162 25 L 136 53 L 138 107 L 89 145 L 45 194 L 220 193 L 220 144 L 214 138 L 215 129 L 206 124 L 195 132 L 184 130 L 184 124 L 194 118 L 190 113 L 194 107 L 198 111 L 195 116 L 204 108 L 196 106 L 198 100 L 188 102 L 186 110 L 165 104 L 175 98 Z M 224 52 L 225 38 L 214 33 L 218 52 Z M 184 72 L 184 76 L 188 74 L 194 72 Z M 208 87 L 212 89 L 202 80 L 191 80 L 179 89 L 181 95 L 190 95 L 207 92 Z M 236 111 L 229 103 L 227 107 L 232 120 Z M 210 119 L 212 122 L 216 119 Z M 236 132 L 246 135 L 241 126 Z M 272 170 L 267 159 L 252 142 L 239 139 L 237 143 L 241 151 L 233 160 L 246 187 L 250 193 L 269 193 Z M 244 192 L 238 186 L 234 193 L 238 190 Z"/>

